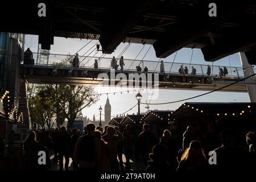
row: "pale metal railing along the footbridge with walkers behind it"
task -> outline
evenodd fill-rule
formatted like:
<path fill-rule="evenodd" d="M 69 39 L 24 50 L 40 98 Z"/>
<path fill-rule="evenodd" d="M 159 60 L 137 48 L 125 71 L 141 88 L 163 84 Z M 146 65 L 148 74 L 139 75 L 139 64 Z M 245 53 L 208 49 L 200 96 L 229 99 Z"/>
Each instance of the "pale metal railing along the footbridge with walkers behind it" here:
<path fill-rule="evenodd" d="M 40 53 L 33 53 L 35 65 L 47 65 L 63 68 L 72 68 L 73 55 L 60 55 L 60 54 L 49 54 L 41 55 Z M 91 56 L 79 56 L 79 68 L 94 68 L 94 60 L 98 60 L 98 69 L 110 69 L 112 57 L 91 57 Z M 132 60 L 124 59 L 124 71 L 136 71 L 139 65 L 144 70 L 144 67 L 148 68 L 148 72 L 160 72 L 160 61 L 148 61 L 148 60 Z M 119 59 L 117 59 L 119 65 Z M 179 73 L 179 69 L 183 66 L 183 73 L 185 67 L 188 69 L 188 75 L 192 74 L 192 67 L 196 69 L 196 75 L 208 76 L 207 65 L 203 64 L 187 64 L 187 63 L 171 63 L 164 62 L 165 73 Z M 210 76 L 220 76 L 220 68 L 224 71 L 224 66 L 210 65 Z M 241 67 L 226 67 L 228 70 L 228 77 L 243 77 L 243 69 Z M 121 69 L 120 66 L 118 69 Z M 256 69 L 254 68 L 256 72 Z"/>

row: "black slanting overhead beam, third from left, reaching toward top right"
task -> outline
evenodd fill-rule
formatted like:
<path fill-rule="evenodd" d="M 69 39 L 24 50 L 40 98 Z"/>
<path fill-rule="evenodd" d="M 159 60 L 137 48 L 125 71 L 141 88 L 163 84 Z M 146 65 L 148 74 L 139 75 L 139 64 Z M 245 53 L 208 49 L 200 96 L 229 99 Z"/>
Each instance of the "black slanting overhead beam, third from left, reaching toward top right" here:
<path fill-rule="evenodd" d="M 208 5 L 212 1 L 200 2 L 199 5 L 187 7 L 180 14 L 175 27 L 170 28 L 162 38 L 154 43 L 154 48 L 157 57 L 167 57 L 179 49 L 187 46 L 189 43 L 204 36 L 208 32 L 214 31 L 217 27 L 226 20 L 242 13 L 246 9 L 246 4 L 243 5 L 237 2 L 228 3 L 226 1 L 215 1 L 217 4 L 217 17 L 208 15 Z M 214 2 L 214 1 L 213 1 Z M 210 41 L 209 41 L 210 43 Z"/>

